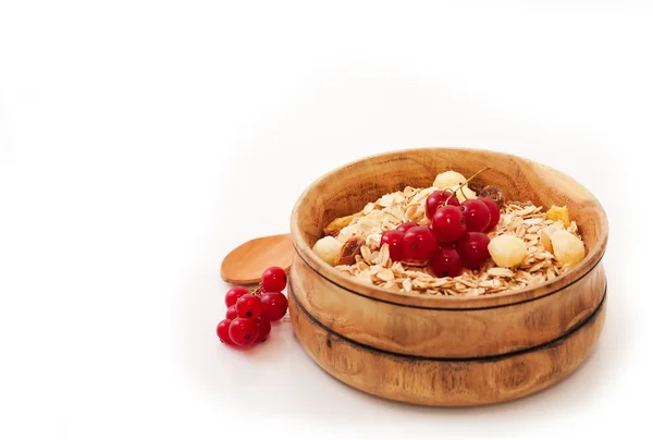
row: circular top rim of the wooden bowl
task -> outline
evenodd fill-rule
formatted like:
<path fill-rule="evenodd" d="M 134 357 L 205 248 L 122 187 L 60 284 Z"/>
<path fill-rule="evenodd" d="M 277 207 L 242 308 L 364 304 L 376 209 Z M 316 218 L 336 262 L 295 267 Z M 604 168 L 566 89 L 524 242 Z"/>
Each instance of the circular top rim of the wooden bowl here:
<path fill-rule="evenodd" d="M 596 218 L 599 221 L 597 229 L 597 240 L 594 246 L 589 249 L 584 259 L 576 265 L 568 272 L 554 278 L 551 281 L 546 281 L 542 284 L 532 288 L 521 288 L 515 289 L 506 292 L 489 294 L 489 295 L 480 295 L 480 296 L 433 296 L 427 294 L 417 294 L 417 293 L 406 293 L 398 292 L 390 289 L 379 288 L 372 284 L 365 283 L 359 281 L 355 277 L 346 276 L 342 273 L 328 262 L 323 261 L 320 257 L 318 257 L 312 250 L 311 246 L 307 243 L 303 237 L 303 233 L 299 227 L 299 208 L 303 203 L 307 199 L 307 195 L 311 192 L 320 183 L 329 180 L 334 174 L 350 168 L 356 167 L 357 164 L 365 162 L 367 160 L 380 159 L 383 157 L 387 157 L 389 155 L 396 154 L 412 154 L 424 150 L 433 150 L 433 151 L 454 151 L 461 154 L 469 152 L 482 152 L 482 154 L 492 154 L 497 156 L 503 156 L 506 159 L 514 159 L 521 161 L 523 163 L 531 163 L 543 169 L 547 169 L 554 173 L 562 174 L 567 179 L 575 182 L 581 190 L 583 190 L 588 197 L 593 201 L 594 207 L 596 209 Z M 556 170 L 552 167 L 549 167 L 544 163 L 537 162 L 525 157 L 516 156 L 508 152 L 502 152 L 490 149 L 480 149 L 480 148 L 467 148 L 467 147 L 421 147 L 421 148 L 404 148 L 404 149 L 394 149 L 390 151 L 384 151 L 375 155 L 370 155 L 362 157 L 357 160 L 353 160 L 346 162 L 315 180 L 310 185 L 308 185 L 300 196 L 295 201 L 291 213 L 291 237 L 293 241 L 293 246 L 295 248 L 296 256 L 298 256 L 304 264 L 318 276 L 324 278 L 329 282 L 340 286 L 343 290 L 346 290 L 353 294 L 366 296 L 370 300 L 381 301 L 385 303 L 395 304 L 398 306 L 405 307 L 415 307 L 415 308 L 428 308 L 428 309 L 484 309 L 484 308 L 494 308 L 494 307 L 504 307 L 509 305 L 515 305 L 523 302 L 534 301 L 538 298 L 542 298 L 549 295 L 556 294 L 557 292 L 568 288 L 571 284 L 583 279 L 586 276 L 592 272 L 592 270 L 601 262 L 603 255 L 605 253 L 605 248 L 607 246 L 607 236 L 608 236 L 608 222 L 605 210 L 599 199 L 580 182 L 576 181 L 574 178 L 568 174 Z M 291 278 L 293 276 L 293 271 L 291 270 Z M 292 280 L 291 280 L 292 281 Z"/>

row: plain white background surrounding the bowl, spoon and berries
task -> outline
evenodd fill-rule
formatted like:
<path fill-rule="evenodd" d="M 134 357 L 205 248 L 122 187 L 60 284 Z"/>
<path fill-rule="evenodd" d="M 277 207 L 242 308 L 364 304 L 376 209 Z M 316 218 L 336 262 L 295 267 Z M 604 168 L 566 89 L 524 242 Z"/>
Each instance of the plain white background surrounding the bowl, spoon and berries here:
<path fill-rule="evenodd" d="M 0 438 L 648 427 L 653 10 L 525 3 L 0 1 Z M 231 248 L 286 232 L 334 167 L 442 145 L 542 161 L 604 204 L 608 316 L 581 369 L 436 410 L 336 382 L 289 322 L 219 344 Z"/>

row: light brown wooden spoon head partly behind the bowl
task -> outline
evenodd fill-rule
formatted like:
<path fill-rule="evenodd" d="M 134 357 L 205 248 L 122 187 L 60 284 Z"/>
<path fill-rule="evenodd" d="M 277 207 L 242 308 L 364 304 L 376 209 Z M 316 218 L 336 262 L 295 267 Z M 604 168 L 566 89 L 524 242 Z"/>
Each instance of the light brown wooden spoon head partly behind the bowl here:
<path fill-rule="evenodd" d="M 289 234 L 250 240 L 224 257 L 220 277 L 232 284 L 257 284 L 263 270 L 271 266 L 278 266 L 287 272 L 294 253 Z"/>

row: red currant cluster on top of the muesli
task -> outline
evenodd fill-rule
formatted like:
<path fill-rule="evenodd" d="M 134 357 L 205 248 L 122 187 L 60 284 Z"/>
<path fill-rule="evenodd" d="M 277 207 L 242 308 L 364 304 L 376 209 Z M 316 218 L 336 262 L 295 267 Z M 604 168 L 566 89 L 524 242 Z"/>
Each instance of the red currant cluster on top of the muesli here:
<path fill-rule="evenodd" d="M 414 222 L 386 231 L 393 261 L 428 262 L 435 277 L 457 277 L 463 268 L 479 269 L 490 257 L 488 233 L 498 223 L 498 205 L 490 198 L 460 204 L 454 191 L 433 192 L 426 201 L 428 227 Z"/>

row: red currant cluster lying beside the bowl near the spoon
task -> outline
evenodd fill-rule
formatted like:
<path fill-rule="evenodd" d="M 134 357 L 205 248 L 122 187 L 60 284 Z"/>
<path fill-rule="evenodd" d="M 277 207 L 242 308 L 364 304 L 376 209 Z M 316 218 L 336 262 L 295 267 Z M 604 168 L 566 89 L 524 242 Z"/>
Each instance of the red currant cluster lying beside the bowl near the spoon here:
<path fill-rule="evenodd" d="M 227 345 L 248 347 L 263 342 L 272 326 L 288 309 L 288 301 L 281 291 L 287 283 L 285 271 L 270 267 L 261 276 L 257 289 L 235 286 L 224 296 L 226 317 L 218 325 L 218 338 Z"/>

